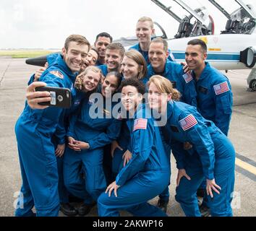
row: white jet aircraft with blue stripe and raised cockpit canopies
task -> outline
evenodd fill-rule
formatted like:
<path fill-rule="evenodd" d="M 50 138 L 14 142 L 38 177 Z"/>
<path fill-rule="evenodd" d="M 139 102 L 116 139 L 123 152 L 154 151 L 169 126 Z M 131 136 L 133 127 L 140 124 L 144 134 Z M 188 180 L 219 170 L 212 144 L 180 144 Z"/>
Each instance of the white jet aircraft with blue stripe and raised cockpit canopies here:
<path fill-rule="evenodd" d="M 184 62 L 184 49 L 189 40 L 200 38 L 208 45 L 207 61 L 216 69 L 252 69 L 247 78 L 249 88 L 256 90 L 256 14 L 249 4 L 242 0 L 234 0 L 239 8 L 229 14 L 217 1 L 208 0 L 216 6 L 226 17 L 226 28 L 220 35 L 214 34 L 214 22 L 210 15 L 205 15 L 205 7 L 191 9 L 184 1 L 173 0 L 189 12 L 189 16 L 180 19 L 158 0 L 151 0 L 165 10 L 179 22 L 179 30 L 173 39 L 167 39 L 171 53 L 176 61 Z M 251 0 L 252 1 L 252 0 Z M 206 18 L 209 24 L 206 25 Z M 195 20 L 194 24 L 191 23 Z"/>

